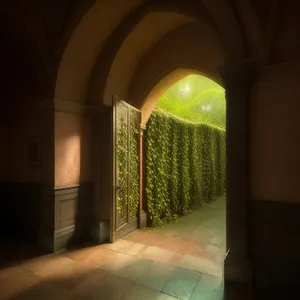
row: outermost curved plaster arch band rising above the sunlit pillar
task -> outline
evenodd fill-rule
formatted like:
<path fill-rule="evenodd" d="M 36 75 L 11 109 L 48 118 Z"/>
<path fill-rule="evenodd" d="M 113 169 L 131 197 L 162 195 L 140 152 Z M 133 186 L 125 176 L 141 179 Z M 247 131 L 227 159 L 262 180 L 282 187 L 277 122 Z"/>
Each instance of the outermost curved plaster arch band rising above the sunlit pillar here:
<path fill-rule="evenodd" d="M 139 4 L 139 0 L 95 1 L 83 16 L 64 51 L 57 75 L 55 98 L 84 102 L 89 75 L 97 55 L 120 20 Z"/>

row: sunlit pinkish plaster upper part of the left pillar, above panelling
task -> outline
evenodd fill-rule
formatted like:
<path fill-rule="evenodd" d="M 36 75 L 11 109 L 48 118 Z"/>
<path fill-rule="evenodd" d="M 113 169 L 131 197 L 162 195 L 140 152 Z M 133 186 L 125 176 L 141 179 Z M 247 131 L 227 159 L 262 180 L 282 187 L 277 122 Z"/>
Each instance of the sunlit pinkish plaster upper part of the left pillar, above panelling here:
<path fill-rule="evenodd" d="M 87 116 L 56 111 L 55 186 L 91 180 L 91 124 Z"/>

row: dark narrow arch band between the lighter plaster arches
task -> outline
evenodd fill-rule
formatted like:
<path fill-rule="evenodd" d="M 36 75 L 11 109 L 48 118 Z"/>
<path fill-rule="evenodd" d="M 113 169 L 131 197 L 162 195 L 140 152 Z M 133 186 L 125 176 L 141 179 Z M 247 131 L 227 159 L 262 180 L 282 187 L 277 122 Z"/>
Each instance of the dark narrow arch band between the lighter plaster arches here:
<path fill-rule="evenodd" d="M 165 17 L 168 18 L 168 24 L 160 19 L 160 16 L 163 13 L 165 14 Z M 186 21 L 201 21 L 205 24 L 209 24 L 212 28 L 217 28 L 216 23 L 206 7 L 200 2 L 191 2 L 183 5 L 180 1 L 164 0 L 152 1 L 139 7 L 118 25 L 113 35 L 106 43 L 103 51 L 100 53 L 93 71 L 93 78 L 89 89 L 89 101 L 91 103 L 99 103 L 99 95 L 102 97 L 102 94 L 105 93 L 105 89 L 107 88 L 107 78 L 109 78 L 111 69 L 115 67 L 115 59 L 121 55 L 121 51 L 127 46 L 126 40 L 130 39 L 132 35 L 134 35 L 134 32 L 136 33 L 139 31 L 143 28 L 143 25 L 147 23 L 149 15 L 152 15 L 153 17 L 153 21 L 149 22 L 150 28 L 154 24 L 156 24 L 156 26 L 159 25 L 156 33 L 152 32 L 152 34 L 156 35 L 156 40 L 162 38 L 164 34 L 178 26 L 179 16 L 181 16 L 182 19 L 185 16 Z M 175 16 L 177 16 L 177 18 L 175 18 Z M 159 22 L 161 23 L 159 24 Z M 152 30 L 150 29 L 150 31 Z M 109 91 L 106 91 L 105 94 L 109 94 Z M 105 104 L 108 104 L 109 97 L 104 95 L 102 101 Z"/>

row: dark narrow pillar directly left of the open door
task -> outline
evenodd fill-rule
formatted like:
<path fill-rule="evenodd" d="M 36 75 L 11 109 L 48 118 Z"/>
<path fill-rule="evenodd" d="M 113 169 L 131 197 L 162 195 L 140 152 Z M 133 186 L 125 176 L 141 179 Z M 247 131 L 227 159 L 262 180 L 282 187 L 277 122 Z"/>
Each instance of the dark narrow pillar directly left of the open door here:
<path fill-rule="evenodd" d="M 92 109 L 93 116 L 93 180 L 94 201 L 90 228 L 96 244 L 112 242 L 113 199 L 113 115 L 110 107 L 103 105 Z"/>

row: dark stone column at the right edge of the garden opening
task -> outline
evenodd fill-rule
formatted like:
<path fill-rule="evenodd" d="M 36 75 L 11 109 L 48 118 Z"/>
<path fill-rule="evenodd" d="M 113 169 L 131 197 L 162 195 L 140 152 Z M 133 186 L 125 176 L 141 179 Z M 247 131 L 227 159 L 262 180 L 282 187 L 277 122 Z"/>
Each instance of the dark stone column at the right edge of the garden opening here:
<path fill-rule="evenodd" d="M 249 261 L 249 99 L 254 79 L 251 62 L 221 72 L 227 102 L 227 256 L 226 282 L 251 283 Z M 226 287 L 226 285 L 225 285 Z"/>

